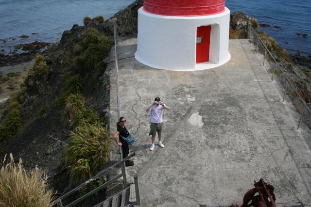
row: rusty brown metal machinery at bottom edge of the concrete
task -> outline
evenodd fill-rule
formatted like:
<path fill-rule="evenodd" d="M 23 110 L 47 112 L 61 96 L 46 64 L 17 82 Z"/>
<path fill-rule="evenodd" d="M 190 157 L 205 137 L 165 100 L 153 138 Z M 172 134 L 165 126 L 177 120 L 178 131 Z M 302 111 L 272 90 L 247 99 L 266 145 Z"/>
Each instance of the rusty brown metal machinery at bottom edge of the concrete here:
<path fill-rule="evenodd" d="M 255 188 L 245 193 L 241 207 L 276 207 L 274 187 L 265 183 L 262 178 L 258 182 L 254 182 Z M 255 195 L 257 192 L 258 194 Z"/>

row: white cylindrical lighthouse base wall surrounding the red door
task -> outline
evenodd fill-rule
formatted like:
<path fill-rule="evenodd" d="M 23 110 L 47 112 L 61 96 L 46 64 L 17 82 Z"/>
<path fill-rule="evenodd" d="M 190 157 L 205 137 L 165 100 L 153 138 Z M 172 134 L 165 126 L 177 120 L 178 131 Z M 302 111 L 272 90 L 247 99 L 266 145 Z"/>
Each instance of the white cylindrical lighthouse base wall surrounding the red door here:
<path fill-rule="evenodd" d="M 135 58 L 148 66 L 179 71 L 218 67 L 230 60 L 230 11 L 209 16 L 161 16 L 138 10 Z M 196 64 L 196 31 L 211 26 L 209 61 Z"/>

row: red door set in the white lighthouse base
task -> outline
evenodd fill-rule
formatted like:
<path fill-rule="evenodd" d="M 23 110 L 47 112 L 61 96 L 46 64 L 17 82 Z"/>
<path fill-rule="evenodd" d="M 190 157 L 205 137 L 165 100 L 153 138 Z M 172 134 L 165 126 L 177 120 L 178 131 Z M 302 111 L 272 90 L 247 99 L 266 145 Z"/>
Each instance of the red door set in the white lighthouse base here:
<path fill-rule="evenodd" d="M 210 25 L 198 27 L 196 32 L 196 63 L 204 63 L 209 60 Z"/>

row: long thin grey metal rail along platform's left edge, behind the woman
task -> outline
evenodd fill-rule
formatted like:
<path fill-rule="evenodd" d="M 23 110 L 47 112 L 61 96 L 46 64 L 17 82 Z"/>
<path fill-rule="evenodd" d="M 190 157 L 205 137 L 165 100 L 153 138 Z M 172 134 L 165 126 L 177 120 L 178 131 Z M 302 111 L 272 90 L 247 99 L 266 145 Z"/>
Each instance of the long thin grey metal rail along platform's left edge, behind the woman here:
<path fill-rule="evenodd" d="M 121 117 L 120 115 L 120 99 L 119 99 L 119 76 L 118 76 L 118 54 L 117 54 L 117 20 L 114 22 L 114 32 L 113 37 L 115 41 L 115 64 L 116 64 L 116 82 L 117 82 L 117 120 Z M 119 140 L 120 142 L 120 140 Z M 119 146 L 119 154 L 120 154 L 120 161 L 123 159 L 122 155 L 122 147 Z M 125 162 L 121 162 L 121 171 L 123 174 L 123 187 L 127 187 L 127 180 L 126 180 L 126 172 L 125 172 Z"/>

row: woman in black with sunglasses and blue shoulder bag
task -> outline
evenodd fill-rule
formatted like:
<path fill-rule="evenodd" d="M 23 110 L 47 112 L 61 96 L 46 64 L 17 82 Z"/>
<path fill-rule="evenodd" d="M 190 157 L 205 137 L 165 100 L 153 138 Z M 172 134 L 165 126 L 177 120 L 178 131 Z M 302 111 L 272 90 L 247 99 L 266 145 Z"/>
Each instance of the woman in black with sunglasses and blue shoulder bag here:
<path fill-rule="evenodd" d="M 122 137 L 126 138 L 129 135 L 125 127 L 125 124 L 126 124 L 126 119 L 124 117 L 120 117 L 119 122 L 117 122 L 117 132 L 115 133 L 115 141 L 119 146 L 122 147 L 123 159 L 128 156 L 128 144 L 122 138 Z M 119 139 L 118 139 L 118 136 L 119 136 Z M 129 160 L 129 159 L 125 161 L 125 166 L 133 166 L 133 165 L 134 165 L 134 161 Z"/>

